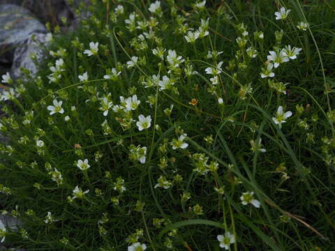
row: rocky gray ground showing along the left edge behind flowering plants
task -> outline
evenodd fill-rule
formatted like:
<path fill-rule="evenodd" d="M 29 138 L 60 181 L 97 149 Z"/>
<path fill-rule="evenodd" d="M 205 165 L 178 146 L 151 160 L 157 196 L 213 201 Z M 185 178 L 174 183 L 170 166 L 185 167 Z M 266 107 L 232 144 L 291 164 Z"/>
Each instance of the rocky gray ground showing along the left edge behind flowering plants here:
<path fill-rule="evenodd" d="M 87 5 L 89 0 L 0 0 L 0 77 L 9 73 L 15 82 L 15 79 L 22 77 L 22 67 L 35 75 L 37 68 L 34 60 L 42 61 L 45 54 L 40 45 L 47 43 L 52 36 L 46 24 L 49 23 L 51 29 L 59 26 L 62 33 L 73 29 L 82 18 L 75 15 L 75 9 L 80 3 Z M 66 24 L 62 22 L 64 17 Z M 1 82 L 0 93 L 3 89 L 8 89 L 8 85 Z M 6 142 L 8 139 L 0 134 L 0 141 Z M 20 225 L 20 220 L 10 216 L 10 213 L 1 214 L 0 220 L 13 231 Z M 8 249 L 13 244 L 4 241 L 0 250 L 24 251 Z"/>

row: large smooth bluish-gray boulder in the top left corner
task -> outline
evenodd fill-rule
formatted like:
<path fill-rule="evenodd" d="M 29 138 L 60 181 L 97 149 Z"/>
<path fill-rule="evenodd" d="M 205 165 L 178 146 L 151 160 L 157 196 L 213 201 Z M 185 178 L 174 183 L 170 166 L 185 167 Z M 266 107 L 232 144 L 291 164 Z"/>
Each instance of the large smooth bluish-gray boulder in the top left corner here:
<path fill-rule="evenodd" d="M 0 62 L 11 63 L 15 48 L 34 32 L 47 30 L 27 8 L 0 4 Z"/>

